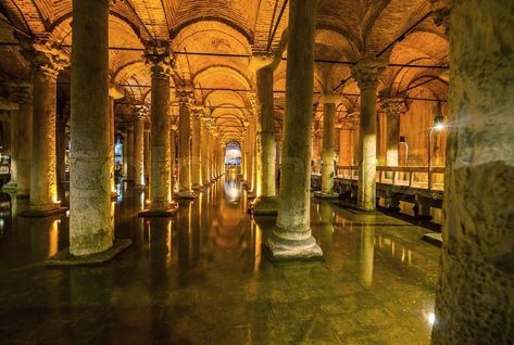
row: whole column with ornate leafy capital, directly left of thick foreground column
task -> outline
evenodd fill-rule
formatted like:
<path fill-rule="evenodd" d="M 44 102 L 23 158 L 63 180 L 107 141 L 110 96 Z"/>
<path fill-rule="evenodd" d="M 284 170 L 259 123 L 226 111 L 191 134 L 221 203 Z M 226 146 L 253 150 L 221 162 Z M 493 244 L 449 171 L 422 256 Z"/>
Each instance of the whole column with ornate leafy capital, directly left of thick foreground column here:
<path fill-rule="evenodd" d="M 63 212 L 55 176 L 57 78 L 67 60 L 49 41 L 37 41 L 24 54 L 33 66 L 33 146 L 30 201 L 25 216 L 43 217 Z"/>

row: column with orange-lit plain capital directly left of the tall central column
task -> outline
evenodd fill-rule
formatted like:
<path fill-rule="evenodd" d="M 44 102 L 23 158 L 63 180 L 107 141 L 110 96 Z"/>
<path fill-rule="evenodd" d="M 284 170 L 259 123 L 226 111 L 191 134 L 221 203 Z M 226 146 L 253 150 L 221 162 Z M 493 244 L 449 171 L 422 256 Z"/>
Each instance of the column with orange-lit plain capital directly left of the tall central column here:
<path fill-rule="evenodd" d="M 250 67 L 256 75 L 255 108 L 258 114 L 256 199 L 252 203 L 254 215 L 276 215 L 278 199 L 275 179 L 275 128 L 273 105 L 273 71 L 280 54 L 254 53 Z"/>

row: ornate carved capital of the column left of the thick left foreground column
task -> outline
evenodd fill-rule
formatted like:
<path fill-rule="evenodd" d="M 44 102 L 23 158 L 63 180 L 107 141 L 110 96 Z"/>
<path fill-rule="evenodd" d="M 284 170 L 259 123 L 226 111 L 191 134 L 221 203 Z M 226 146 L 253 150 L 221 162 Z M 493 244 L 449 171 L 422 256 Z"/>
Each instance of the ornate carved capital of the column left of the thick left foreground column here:
<path fill-rule="evenodd" d="M 23 56 L 34 71 L 57 79 L 59 71 L 70 65 L 70 58 L 49 37 L 38 37 L 34 41 L 20 40 Z"/>

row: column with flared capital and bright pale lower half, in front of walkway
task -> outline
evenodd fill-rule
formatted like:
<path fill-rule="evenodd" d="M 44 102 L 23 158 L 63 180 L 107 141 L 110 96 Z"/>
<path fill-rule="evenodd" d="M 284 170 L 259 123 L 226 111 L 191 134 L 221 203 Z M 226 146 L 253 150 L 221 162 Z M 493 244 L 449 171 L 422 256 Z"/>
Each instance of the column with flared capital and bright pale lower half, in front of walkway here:
<path fill-rule="evenodd" d="M 377 87 L 387 63 L 363 59 L 353 66 L 352 75 L 361 89 L 361 131 L 359 133 L 358 207 L 376 209 L 377 175 Z"/>

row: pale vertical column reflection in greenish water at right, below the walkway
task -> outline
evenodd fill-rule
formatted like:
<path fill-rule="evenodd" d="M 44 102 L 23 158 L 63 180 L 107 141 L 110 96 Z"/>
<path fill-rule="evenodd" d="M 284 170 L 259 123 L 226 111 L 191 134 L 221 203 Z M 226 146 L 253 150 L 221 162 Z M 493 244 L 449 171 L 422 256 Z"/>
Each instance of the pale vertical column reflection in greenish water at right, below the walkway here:
<path fill-rule="evenodd" d="M 362 217 L 361 230 L 361 282 L 369 288 L 373 283 L 373 260 L 375 251 L 375 216 Z"/>

